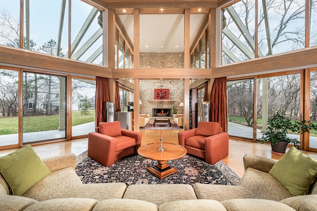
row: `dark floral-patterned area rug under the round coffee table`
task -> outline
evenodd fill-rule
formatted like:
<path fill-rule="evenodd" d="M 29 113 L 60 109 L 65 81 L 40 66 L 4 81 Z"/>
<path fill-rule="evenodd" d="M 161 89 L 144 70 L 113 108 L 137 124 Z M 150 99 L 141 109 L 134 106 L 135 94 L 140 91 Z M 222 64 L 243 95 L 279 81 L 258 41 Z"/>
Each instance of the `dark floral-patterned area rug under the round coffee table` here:
<path fill-rule="evenodd" d="M 167 162 L 176 168 L 177 172 L 162 180 L 147 170 L 147 167 L 156 164 L 157 161 L 135 155 L 105 167 L 90 159 L 86 151 L 77 157 L 75 171 L 84 183 L 237 185 L 240 181 L 240 177 L 222 161 L 210 165 L 199 158 L 185 155 L 183 158 Z"/>

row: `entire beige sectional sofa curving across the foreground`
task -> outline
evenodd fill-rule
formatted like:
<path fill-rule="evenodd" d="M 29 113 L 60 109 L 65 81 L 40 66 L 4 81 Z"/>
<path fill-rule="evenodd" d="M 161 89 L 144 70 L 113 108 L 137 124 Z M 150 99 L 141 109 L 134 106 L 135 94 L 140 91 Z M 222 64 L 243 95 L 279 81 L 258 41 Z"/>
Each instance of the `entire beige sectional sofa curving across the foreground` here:
<path fill-rule="evenodd" d="M 0 176 L 0 211 L 271 211 L 317 210 L 316 181 L 308 195 L 292 197 L 267 172 L 276 161 L 246 155 L 238 186 L 124 183 L 82 184 L 76 156 L 44 159 L 52 171 L 21 196 L 9 195 Z"/>

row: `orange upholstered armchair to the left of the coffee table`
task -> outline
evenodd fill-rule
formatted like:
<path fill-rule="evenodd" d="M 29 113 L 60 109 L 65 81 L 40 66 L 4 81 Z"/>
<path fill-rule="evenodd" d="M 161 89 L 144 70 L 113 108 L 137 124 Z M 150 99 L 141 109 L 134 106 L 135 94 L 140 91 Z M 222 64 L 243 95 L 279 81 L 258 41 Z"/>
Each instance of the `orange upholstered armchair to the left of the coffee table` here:
<path fill-rule="evenodd" d="M 88 134 L 88 157 L 111 166 L 128 155 L 137 155 L 141 139 L 141 132 L 121 129 L 119 121 L 99 123 L 96 132 Z"/>

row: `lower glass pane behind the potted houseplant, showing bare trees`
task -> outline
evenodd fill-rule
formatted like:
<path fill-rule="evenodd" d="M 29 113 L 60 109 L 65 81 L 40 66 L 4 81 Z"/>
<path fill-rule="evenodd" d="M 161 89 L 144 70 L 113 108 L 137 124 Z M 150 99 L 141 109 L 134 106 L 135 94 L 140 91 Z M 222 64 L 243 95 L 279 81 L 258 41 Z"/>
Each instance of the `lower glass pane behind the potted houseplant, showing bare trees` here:
<path fill-rule="evenodd" d="M 300 120 L 300 74 L 260 78 L 257 81 L 257 138 L 267 129 L 267 118 L 277 112 L 284 113 L 291 121 Z M 299 134 L 290 138 L 300 139 Z"/>

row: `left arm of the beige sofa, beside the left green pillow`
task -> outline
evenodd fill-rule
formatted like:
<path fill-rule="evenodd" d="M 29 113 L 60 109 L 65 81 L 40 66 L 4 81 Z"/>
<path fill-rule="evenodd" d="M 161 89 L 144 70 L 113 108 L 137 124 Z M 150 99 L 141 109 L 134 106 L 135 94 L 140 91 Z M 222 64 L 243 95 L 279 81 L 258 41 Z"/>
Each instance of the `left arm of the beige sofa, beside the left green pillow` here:
<path fill-rule="evenodd" d="M 76 155 L 73 153 L 64 154 L 51 158 L 45 158 L 42 159 L 42 161 L 51 171 L 66 169 L 68 167 L 75 169 Z"/>

